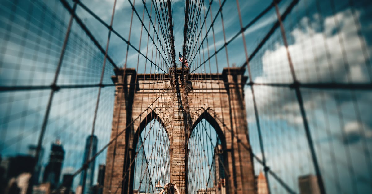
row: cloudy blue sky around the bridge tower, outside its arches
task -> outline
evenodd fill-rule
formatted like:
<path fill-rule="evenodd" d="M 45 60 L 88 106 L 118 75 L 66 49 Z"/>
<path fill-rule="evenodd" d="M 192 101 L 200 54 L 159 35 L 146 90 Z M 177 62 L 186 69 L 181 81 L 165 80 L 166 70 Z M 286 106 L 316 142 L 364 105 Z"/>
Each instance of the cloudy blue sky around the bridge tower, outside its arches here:
<path fill-rule="evenodd" d="M 73 1 L 68 0 L 70 6 Z M 83 0 L 82 3 L 106 24 L 110 24 L 113 0 Z M 262 12 L 271 1 L 240 0 L 243 26 Z M 291 1 L 279 3 L 283 13 Z M 137 14 L 132 17 L 132 5 Z M 350 7 L 350 5 L 352 5 Z M 153 3 L 146 1 L 153 22 Z M 202 14 L 203 14 L 202 7 Z M 205 3 L 205 9 L 208 3 Z M 219 9 L 219 1 L 212 1 L 211 12 L 205 25 L 211 26 Z M 70 14 L 60 1 L 1 1 L 0 6 L 0 84 L 1 86 L 49 85 L 52 83 L 58 64 Z M 160 5 L 158 10 L 161 12 Z M 182 53 L 185 1 L 173 0 L 174 43 L 176 56 L 169 56 L 167 42 L 163 40 L 158 22 L 155 30 L 142 1 L 118 0 L 113 17 L 113 29 L 121 36 L 111 33 L 108 55 L 118 67 L 136 68 L 140 73 L 168 71 L 167 64 L 160 59 Z M 164 11 L 164 10 L 163 10 Z M 99 45 L 105 49 L 109 30 L 90 13 L 78 6 L 77 16 L 87 26 Z M 288 38 L 289 53 L 298 81 L 302 83 L 371 83 L 372 56 L 372 6 L 368 1 L 319 1 L 302 0 L 294 7 L 284 22 Z M 221 17 L 212 32 L 202 43 L 201 52 L 212 55 L 215 48 L 224 45 L 240 30 L 237 5 L 226 1 Z M 142 19 L 143 15 L 143 19 Z M 161 14 L 160 14 L 161 15 Z M 202 16 L 203 17 L 203 16 Z M 275 10 L 271 9 L 245 32 L 248 55 L 253 52 L 269 29 L 276 22 Z M 145 28 L 141 25 L 143 20 Z M 62 62 L 58 85 L 97 84 L 100 80 L 104 55 L 76 22 Z M 141 35 L 142 29 L 142 35 Z M 151 35 L 149 39 L 145 32 Z M 198 28 L 199 30 L 199 28 Z M 129 33 L 131 35 L 129 36 Z M 156 36 L 158 34 L 159 36 Z M 203 29 L 202 35 L 205 36 Z M 129 41 L 134 48 L 123 41 Z M 191 40 L 189 40 L 191 41 Z M 201 41 L 199 42 L 201 43 Z M 195 42 L 192 47 L 194 48 Z M 154 46 L 156 45 L 156 46 Z M 195 49 L 199 47 L 197 43 Z M 127 49 L 128 48 L 128 49 Z M 163 51 L 164 49 L 164 51 Z M 192 51 L 195 51 L 192 49 Z M 244 45 L 238 35 L 215 57 L 200 68 L 200 55 L 189 56 L 190 71 L 221 72 L 222 68 L 241 66 L 245 60 Z M 195 56 L 195 57 L 194 57 Z M 156 59 L 156 61 L 155 61 Z M 192 60 L 194 59 L 194 60 Z M 217 62 L 216 62 L 217 61 Z M 154 62 L 154 64 L 152 64 Z M 217 64 L 218 63 L 218 64 Z M 155 68 L 155 64 L 160 68 Z M 217 68 L 218 67 L 218 68 Z M 107 62 L 103 84 L 111 84 L 113 65 Z M 250 61 L 252 81 L 256 83 L 292 83 L 288 56 L 283 46 L 280 30 L 277 29 L 263 48 Z M 245 72 L 247 75 L 247 71 Z M 254 86 L 257 108 L 267 165 L 298 192 L 297 178 L 314 174 L 314 166 L 304 132 L 294 90 L 285 87 Z M 372 182 L 372 93 L 368 90 L 314 90 L 302 89 L 304 106 L 309 120 L 311 135 L 317 152 L 320 169 L 328 193 L 367 193 Z M 109 141 L 112 122 L 114 88 L 105 87 L 99 102 L 95 134 L 98 149 Z M 36 144 L 45 115 L 49 90 L 12 91 L 0 93 L 0 149 L 1 156 L 27 153 L 29 144 Z M 49 148 L 55 139 L 61 139 L 66 156 L 63 172 L 74 172 L 82 163 L 81 155 L 85 139 L 92 130 L 97 99 L 97 88 L 61 89 L 55 93 L 43 141 L 46 150 L 44 164 L 48 161 Z M 245 88 L 245 100 L 249 135 L 254 153 L 262 157 L 257 136 L 257 125 L 253 111 L 252 93 Z M 150 143 L 148 144 L 150 145 Z M 77 159 L 78 158 L 78 159 Z M 106 152 L 96 162 L 104 164 Z M 262 169 L 255 163 L 255 172 Z M 75 186 L 77 181 L 75 179 Z M 283 187 L 269 178 L 274 193 L 283 193 Z"/>

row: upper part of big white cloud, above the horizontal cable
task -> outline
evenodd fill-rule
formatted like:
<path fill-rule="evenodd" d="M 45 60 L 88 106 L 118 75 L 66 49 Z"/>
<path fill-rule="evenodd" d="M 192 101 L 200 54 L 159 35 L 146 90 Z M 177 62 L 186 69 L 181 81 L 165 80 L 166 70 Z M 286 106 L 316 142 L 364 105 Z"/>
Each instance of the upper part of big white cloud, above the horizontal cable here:
<path fill-rule="evenodd" d="M 363 72 L 365 58 L 351 12 L 346 10 L 325 17 L 324 24 L 321 24 L 324 26 L 324 33 L 317 30 L 317 18 L 317 15 L 314 19 L 304 17 L 298 28 L 287 33 L 287 38 L 292 37 L 294 42 L 288 49 L 297 79 L 301 82 L 368 81 L 368 75 Z M 339 22 L 338 25 L 336 21 Z M 327 50 L 325 46 L 328 47 Z M 329 61 L 327 55 L 330 56 Z M 284 45 L 275 43 L 273 50 L 267 49 L 262 56 L 262 63 L 263 75 L 255 77 L 255 82 L 292 82 Z"/>

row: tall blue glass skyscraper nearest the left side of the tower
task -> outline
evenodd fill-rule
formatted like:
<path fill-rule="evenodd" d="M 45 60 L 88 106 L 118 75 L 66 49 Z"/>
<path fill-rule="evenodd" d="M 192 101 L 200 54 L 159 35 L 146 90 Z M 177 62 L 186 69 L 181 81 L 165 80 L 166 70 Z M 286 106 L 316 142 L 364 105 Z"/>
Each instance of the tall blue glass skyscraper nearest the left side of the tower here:
<path fill-rule="evenodd" d="M 91 139 L 92 139 L 92 146 L 90 146 Z M 90 136 L 87 137 L 87 142 L 85 144 L 83 165 L 88 159 L 90 159 L 90 158 L 92 158 L 92 156 L 96 155 L 96 153 L 97 153 L 97 143 L 98 143 L 97 136 L 90 135 Z M 91 149 L 91 150 L 89 151 L 89 149 Z M 89 154 L 89 156 L 88 156 L 88 154 Z M 96 164 L 96 162 L 95 162 L 95 160 L 93 160 L 88 165 L 88 168 L 86 170 L 84 170 L 83 172 L 81 172 L 80 184 L 79 185 L 81 185 L 81 186 L 84 185 L 83 190 L 81 191 L 82 194 L 88 193 L 90 187 L 93 185 L 93 175 L 94 175 L 94 165 L 95 164 Z"/>

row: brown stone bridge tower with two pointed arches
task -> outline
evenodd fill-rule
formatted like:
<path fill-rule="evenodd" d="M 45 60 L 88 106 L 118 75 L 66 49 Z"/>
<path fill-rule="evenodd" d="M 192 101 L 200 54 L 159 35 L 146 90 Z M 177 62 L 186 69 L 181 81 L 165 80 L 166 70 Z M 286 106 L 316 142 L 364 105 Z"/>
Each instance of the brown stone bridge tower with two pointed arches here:
<path fill-rule="evenodd" d="M 115 72 L 111 140 L 122 134 L 107 151 L 103 192 L 115 193 L 117 188 L 116 193 L 133 192 L 134 165 L 130 163 L 138 135 L 157 119 L 170 139 L 170 181 L 178 185 L 181 193 L 188 193 L 187 141 L 195 126 L 206 119 L 222 142 L 224 166 L 228 169 L 227 193 L 256 193 L 244 104 L 244 70 L 224 68 L 222 74 L 190 74 L 185 68 L 183 74 L 181 69 L 176 73 L 178 76 L 170 69 L 170 76 L 137 74 L 131 68 Z M 159 97 L 164 92 L 173 93 L 173 98 Z"/>

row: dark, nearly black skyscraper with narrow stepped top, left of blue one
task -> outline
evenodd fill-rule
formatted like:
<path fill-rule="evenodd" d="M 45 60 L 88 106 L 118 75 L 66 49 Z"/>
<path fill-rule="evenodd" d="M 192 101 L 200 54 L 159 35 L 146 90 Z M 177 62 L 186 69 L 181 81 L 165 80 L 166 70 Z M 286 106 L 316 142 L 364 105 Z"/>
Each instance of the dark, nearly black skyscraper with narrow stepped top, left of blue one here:
<path fill-rule="evenodd" d="M 60 140 L 52 143 L 49 162 L 45 166 L 43 182 L 50 182 L 52 188 L 56 188 L 60 181 L 62 164 L 65 156 L 65 151 Z"/>

